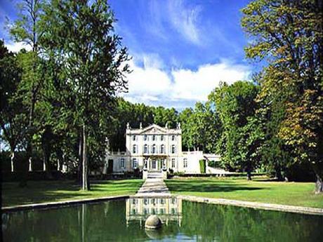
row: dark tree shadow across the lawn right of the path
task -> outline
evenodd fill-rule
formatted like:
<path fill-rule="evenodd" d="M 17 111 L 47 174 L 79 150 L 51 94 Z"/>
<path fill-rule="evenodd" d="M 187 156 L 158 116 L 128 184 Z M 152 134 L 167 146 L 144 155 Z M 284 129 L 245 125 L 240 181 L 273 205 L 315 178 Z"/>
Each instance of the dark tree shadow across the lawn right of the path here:
<path fill-rule="evenodd" d="M 171 191 L 254 191 L 270 189 L 268 187 L 246 187 L 241 184 L 215 184 L 211 182 L 169 182 L 167 187 Z"/>

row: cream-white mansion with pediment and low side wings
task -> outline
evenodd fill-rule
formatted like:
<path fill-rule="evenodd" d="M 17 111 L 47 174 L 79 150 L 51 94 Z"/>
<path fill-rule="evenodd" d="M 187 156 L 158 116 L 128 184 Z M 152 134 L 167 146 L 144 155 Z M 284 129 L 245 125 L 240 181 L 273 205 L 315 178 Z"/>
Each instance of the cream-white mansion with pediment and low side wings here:
<path fill-rule="evenodd" d="M 204 154 L 202 151 L 182 152 L 182 130 L 162 128 L 152 124 L 143 128 L 126 128 L 126 152 L 107 151 L 105 170 L 113 166 L 113 173 L 124 173 L 137 168 L 147 171 L 173 170 L 196 174 L 200 173 L 199 161 L 220 161 L 216 154 Z M 209 173 L 206 162 L 206 173 Z"/>

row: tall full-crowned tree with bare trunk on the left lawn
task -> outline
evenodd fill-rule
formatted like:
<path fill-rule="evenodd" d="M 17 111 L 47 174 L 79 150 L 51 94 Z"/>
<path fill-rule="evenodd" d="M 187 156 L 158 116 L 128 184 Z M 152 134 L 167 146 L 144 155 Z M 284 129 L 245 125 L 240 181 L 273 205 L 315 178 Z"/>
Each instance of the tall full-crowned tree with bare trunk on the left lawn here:
<path fill-rule="evenodd" d="M 82 189 L 87 190 L 88 135 L 102 127 L 112 98 L 126 88 L 128 55 L 121 38 L 113 33 L 115 19 L 107 1 L 53 0 L 44 12 L 46 53 L 63 63 L 65 81 L 72 86 L 74 123 L 82 151 Z"/>

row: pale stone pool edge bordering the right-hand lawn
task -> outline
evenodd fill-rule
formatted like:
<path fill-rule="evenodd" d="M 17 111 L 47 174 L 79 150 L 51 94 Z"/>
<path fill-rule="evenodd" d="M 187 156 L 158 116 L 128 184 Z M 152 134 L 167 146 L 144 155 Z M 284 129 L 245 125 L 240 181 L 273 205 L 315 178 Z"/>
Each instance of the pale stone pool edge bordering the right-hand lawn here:
<path fill-rule="evenodd" d="M 282 205 L 276 203 L 258 203 L 251 201 L 239 201 L 231 199 L 212 199 L 203 196 L 178 195 L 180 199 L 186 201 L 195 201 L 198 203 L 211 203 L 219 205 L 239 206 L 244 208 L 255 208 L 262 210 L 275 210 L 288 213 L 301 213 L 307 215 L 323 215 L 323 208 L 312 208 L 303 206 Z"/>

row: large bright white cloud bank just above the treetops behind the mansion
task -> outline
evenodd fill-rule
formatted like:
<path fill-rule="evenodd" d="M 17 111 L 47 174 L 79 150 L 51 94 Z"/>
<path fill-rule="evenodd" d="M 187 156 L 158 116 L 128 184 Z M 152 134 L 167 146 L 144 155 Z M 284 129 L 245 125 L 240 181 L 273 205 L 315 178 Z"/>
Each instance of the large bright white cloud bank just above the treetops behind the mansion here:
<path fill-rule="evenodd" d="M 171 72 L 164 71 L 160 65 L 145 63 L 156 62 L 144 61 L 142 67 L 134 61 L 130 62 L 133 72 L 128 75 L 128 93 L 124 94 L 124 98 L 130 102 L 166 107 L 183 107 L 187 103 L 187 106 L 191 106 L 194 102 L 206 101 L 220 81 L 230 84 L 246 80 L 250 74 L 249 67 L 228 60 L 201 65 L 196 70 L 173 69 Z"/>

